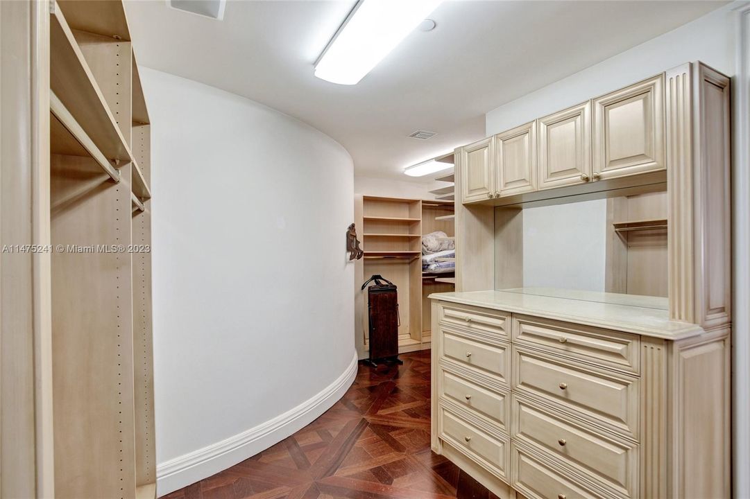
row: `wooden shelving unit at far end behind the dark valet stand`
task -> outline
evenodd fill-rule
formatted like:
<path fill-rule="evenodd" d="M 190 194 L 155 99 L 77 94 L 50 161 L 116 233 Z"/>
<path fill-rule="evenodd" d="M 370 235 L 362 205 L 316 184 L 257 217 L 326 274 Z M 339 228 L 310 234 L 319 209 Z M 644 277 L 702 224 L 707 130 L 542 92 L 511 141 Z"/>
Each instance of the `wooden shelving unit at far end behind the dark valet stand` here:
<path fill-rule="evenodd" d="M 442 230 L 453 237 L 452 214 L 452 202 L 356 196 L 355 220 L 365 252 L 356 263 L 357 348 L 361 356 L 368 350 L 368 316 L 367 293 L 359 287 L 376 273 L 398 286 L 399 351 L 430 348 L 427 296 L 452 291 L 453 285 L 438 280 L 450 279 L 452 274 L 422 273 L 422 235 Z"/>

